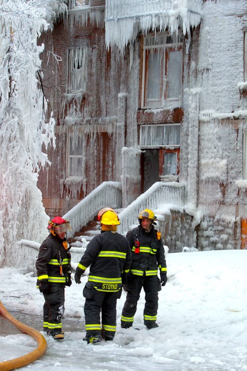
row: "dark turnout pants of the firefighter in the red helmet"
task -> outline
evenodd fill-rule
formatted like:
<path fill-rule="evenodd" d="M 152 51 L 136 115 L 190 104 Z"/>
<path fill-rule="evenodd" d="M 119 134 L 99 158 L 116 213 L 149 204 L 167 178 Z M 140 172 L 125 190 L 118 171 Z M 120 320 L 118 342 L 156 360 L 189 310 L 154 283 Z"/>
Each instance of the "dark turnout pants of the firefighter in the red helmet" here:
<path fill-rule="evenodd" d="M 51 332 L 60 332 L 64 314 L 64 285 L 50 285 L 49 292 L 43 293 L 43 328 Z"/>

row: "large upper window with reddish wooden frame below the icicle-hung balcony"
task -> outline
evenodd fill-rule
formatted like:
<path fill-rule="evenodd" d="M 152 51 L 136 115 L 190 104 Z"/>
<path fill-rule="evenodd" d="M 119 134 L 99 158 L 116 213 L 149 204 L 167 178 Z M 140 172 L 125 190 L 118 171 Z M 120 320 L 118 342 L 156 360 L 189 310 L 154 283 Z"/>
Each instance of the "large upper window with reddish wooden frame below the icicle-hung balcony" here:
<path fill-rule="evenodd" d="M 167 32 L 144 37 L 142 108 L 179 107 L 182 91 L 183 51 L 179 37 Z"/>

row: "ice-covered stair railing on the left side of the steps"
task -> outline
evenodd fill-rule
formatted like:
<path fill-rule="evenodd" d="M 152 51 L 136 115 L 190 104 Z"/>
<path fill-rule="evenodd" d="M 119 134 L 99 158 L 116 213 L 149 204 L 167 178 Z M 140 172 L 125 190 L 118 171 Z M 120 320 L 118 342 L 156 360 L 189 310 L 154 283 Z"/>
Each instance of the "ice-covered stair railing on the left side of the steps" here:
<path fill-rule="evenodd" d="M 64 219 L 70 221 L 72 227 L 72 233 L 68 237 L 72 237 L 75 232 L 80 231 L 82 226 L 92 220 L 98 211 L 105 206 L 122 208 L 122 183 L 103 182 L 68 211 L 63 216 Z"/>

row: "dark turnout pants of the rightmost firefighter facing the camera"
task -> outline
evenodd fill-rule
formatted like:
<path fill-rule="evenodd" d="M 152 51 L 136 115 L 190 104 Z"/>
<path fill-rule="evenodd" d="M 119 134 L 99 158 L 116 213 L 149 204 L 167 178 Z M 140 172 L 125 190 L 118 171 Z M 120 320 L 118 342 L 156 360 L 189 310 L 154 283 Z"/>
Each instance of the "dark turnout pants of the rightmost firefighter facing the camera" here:
<path fill-rule="evenodd" d="M 142 288 L 145 291 L 144 324 L 151 324 L 157 320 L 158 291 L 161 290 L 161 283 L 158 276 L 146 276 L 145 274 L 143 276 L 136 276 L 130 273 L 127 275 L 127 297 L 121 317 L 121 326 L 124 328 L 131 327 L 133 324 L 137 302 L 140 298 Z"/>

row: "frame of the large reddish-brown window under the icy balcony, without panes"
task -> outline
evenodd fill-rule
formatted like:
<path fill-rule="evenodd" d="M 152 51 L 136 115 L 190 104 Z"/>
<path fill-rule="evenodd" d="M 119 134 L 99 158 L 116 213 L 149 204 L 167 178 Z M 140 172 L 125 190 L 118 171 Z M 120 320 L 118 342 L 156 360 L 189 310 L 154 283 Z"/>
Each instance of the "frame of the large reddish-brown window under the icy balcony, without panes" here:
<path fill-rule="evenodd" d="M 158 38 L 158 36 L 159 38 Z M 180 107 L 181 106 L 181 97 L 182 97 L 182 81 L 183 81 L 183 42 L 182 41 L 172 41 L 167 42 L 167 38 L 170 37 L 169 33 L 165 31 L 155 35 L 154 33 L 148 33 L 147 36 L 143 36 L 143 53 L 142 53 L 142 70 L 141 70 L 141 108 L 142 109 L 158 109 L 165 108 L 170 106 Z M 177 37 L 181 39 L 180 36 Z M 157 41 L 152 44 L 148 44 L 148 40 Z M 161 42 L 160 42 L 161 41 Z M 161 79 L 160 79 L 160 97 L 157 99 L 159 102 L 156 106 L 148 104 L 146 98 L 147 88 L 148 88 L 148 57 L 153 50 L 157 50 L 157 53 L 163 54 L 163 65 L 161 67 Z M 160 51 L 158 51 L 160 49 Z M 181 59 L 181 76 L 180 76 L 180 94 L 178 97 L 167 98 L 168 92 L 168 64 L 169 64 L 169 53 L 172 51 L 182 51 Z M 163 52 L 162 52 L 163 51 Z M 150 101 L 150 100 L 149 100 Z"/>

